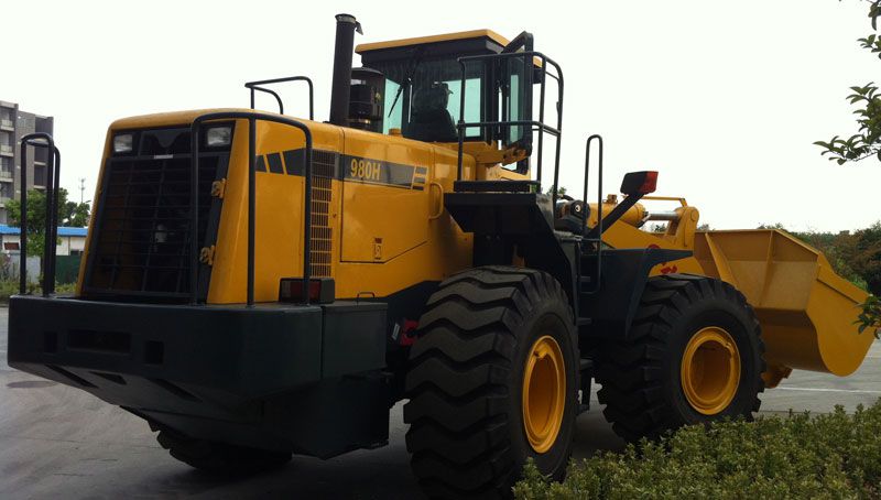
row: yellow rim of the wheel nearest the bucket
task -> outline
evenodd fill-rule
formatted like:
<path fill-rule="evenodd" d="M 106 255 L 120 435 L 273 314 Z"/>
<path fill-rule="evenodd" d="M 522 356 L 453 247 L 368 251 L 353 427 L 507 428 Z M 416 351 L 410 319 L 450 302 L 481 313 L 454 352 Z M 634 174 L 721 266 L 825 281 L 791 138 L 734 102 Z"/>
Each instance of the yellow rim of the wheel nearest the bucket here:
<path fill-rule="evenodd" d="M 682 357 L 682 389 L 697 412 L 715 415 L 731 404 L 740 384 L 740 352 L 731 335 L 709 326 L 692 337 Z"/>

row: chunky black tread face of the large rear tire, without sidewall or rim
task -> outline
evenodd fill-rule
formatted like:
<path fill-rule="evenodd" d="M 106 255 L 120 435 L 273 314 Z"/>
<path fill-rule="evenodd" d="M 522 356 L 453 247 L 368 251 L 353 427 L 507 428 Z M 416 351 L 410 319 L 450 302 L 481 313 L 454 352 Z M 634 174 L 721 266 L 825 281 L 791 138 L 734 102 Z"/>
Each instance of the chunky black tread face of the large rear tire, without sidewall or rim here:
<path fill-rule="evenodd" d="M 515 333 L 548 296 L 568 303 L 544 272 L 481 267 L 450 276 L 428 300 L 410 354 L 404 422 L 413 471 L 429 497 L 510 496 Z"/>

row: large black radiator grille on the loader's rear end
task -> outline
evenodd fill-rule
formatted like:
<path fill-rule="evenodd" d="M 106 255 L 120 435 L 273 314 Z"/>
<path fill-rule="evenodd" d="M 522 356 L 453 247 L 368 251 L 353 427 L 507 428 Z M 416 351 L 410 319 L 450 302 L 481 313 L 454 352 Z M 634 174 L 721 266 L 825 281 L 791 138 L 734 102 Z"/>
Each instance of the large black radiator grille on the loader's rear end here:
<path fill-rule="evenodd" d="M 165 156 L 171 157 L 108 160 L 88 291 L 171 297 L 191 293 L 191 161 L 188 154 Z M 224 175 L 227 161 L 226 153 L 199 159 L 199 247 L 213 222 L 211 182 Z"/>

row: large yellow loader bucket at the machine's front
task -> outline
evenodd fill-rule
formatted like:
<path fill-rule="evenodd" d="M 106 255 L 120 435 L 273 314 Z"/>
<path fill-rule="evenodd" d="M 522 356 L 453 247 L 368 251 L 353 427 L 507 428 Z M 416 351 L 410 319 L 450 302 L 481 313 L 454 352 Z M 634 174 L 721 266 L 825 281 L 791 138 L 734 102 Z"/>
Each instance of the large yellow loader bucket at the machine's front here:
<path fill-rule="evenodd" d="M 855 320 L 867 293 L 838 276 L 818 250 L 773 229 L 707 231 L 695 238 L 707 275 L 735 285 L 755 308 L 774 387 L 787 369 L 847 376 L 873 340 Z"/>

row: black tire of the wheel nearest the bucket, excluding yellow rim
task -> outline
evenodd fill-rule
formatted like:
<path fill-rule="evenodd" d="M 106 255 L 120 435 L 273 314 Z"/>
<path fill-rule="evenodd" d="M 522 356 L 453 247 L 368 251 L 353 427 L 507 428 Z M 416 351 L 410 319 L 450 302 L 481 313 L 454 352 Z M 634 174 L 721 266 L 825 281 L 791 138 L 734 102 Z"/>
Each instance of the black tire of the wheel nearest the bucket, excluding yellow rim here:
<path fill-rule="evenodd" d="M 684 393 L 681 369 L 687 343 L 703 327 L 724 326 L 740 356 L 740 379 L 731 402 L 717 414 L 698 412 Z M 599 402 L 616 434 L 655 439 L 683 425 L 725 417 L 750 420 L 764 391 L 764 344 L 752 306 L 719 280 L 688 274 L 651 278 L 627 340 L 597 351 Z"/>

